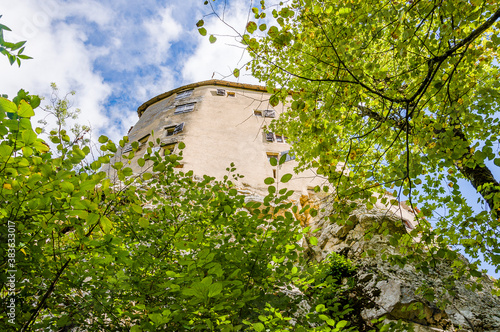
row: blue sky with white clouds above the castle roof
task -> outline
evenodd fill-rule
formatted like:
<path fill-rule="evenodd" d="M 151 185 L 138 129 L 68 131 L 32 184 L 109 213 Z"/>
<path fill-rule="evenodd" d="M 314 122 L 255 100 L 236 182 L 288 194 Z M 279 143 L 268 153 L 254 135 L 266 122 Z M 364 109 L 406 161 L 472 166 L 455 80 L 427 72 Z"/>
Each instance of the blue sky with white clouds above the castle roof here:
<path fill-rule="evenodd" d="M 227 2 L 226 20 L 245 28 L 252 1 Z M 33 60 L 21 68 L 0 61 L 0 92 L 14 96 L 20 88 L 49 96 L 50 83 L 63 94 L 76 91 L 79 122 L 90 124 L 97 137 L 118 140 L 136 121 L 139 105 L 178 86 L 230 74 L 248 60 L 234 35 L 202 0 L 73 1 L 19 0 L 0 9 L 2 24 L 13 31 L 8 41 L 26 40 Z M 215 45 L 197 30 L 218 35 Z M 239 79 L 258 83 L 247 73 Z"/>

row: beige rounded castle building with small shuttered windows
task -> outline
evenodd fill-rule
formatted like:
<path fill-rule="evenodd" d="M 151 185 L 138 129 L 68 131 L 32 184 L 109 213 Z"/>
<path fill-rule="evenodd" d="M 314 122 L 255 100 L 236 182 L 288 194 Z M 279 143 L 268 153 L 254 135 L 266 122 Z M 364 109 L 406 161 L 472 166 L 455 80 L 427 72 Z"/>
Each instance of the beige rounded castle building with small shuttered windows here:
<path fill-rule="evenodd" d="M 180 165 L 183 171 L 222 179 L 228 175 L 226 168 L 234 163 L 235 173 L 244 175 L 241 185 L 265 190 L 265 178 L 279 180 L 286 173 L 293 174 L 297 166 L 288 138 L 267 129 L 273 119 L 286 111 L 286 105 L 272 107 L 270 96 L 262 86 L 209 80 L 148 100 L 138 108 L 139 121 L 128 135 L 130 142 L 140 144 L 132 169 L 136 173 L 144 170 L 134 160 L 146 153 L 149 142 L 154 144 L 153 151 L 165 155 L 177 152 L 182 141 L 186 145 Z M 121 153 L 131 150 L 129 143 Z M 284 164 L 271 166 L 271 158 L 283 155 Z M 286 187 L 301 193 L 323 182 L 313 170 L 308 170 L 294 175 Z"/>

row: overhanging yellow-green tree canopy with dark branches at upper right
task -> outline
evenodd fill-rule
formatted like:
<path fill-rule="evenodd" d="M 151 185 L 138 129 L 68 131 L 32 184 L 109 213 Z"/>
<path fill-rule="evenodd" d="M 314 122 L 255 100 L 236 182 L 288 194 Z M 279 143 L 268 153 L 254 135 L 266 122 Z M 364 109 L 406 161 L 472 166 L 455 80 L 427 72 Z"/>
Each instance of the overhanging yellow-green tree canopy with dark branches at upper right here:
<path fill-rule="evenodd" d="M 423 239 L 418 252 L 453 246 L 498 269 L 496 2 L 266 4 L 252 9 L 240 40 L 274 102 L 290 103 L 273 130 L 296 141 L 300 169 L 317 168 L 339 201 L 371 207 L 387 192 L 408 199 L 418 214 L 413 235 Z M 255 29 L 270 15 L 272 25 Z M 466 197 L 467 185 L 479 204 Z M 417 266 L 429 271 L 428 263 Z M 480 275 L 456 264 L 457 275 Z"/>

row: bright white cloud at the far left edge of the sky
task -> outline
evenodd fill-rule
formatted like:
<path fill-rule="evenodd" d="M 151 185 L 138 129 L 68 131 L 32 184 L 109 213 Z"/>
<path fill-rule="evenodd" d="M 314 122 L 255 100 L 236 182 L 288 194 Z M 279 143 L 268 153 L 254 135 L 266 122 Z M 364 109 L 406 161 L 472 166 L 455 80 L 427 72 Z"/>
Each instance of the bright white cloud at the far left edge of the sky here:
<path fill-rule="evenodd" d="M 54 17 L 61 14 L 61 9 L 49 16 L 45 10 L 48 7 L 29 2 L 28 8 L 19 5 L 9 8 L 5 12 L 5 24 L 20 32 L 6 35 L 6 38 L 18 41 L 20 36 L 30 37 L 25 53 L 33 59 L 23 61 L 21 68 L 17 68 L 0 58 L 3 73 L 0 91 L 11 97 L 20 88 L 49 95 L 49 84 L 55 82 L 61 93 L 77 91 L 74 106 L 82 109 L 79 122 L 91 123 L 97 130 L 103 128 L 107 117 L 100 110 L 110 94 L 110 87 L 93 72 L 92 64 L 102 50 L 85 45 L 87 35 L 80 26 L 56 21 Z"/>

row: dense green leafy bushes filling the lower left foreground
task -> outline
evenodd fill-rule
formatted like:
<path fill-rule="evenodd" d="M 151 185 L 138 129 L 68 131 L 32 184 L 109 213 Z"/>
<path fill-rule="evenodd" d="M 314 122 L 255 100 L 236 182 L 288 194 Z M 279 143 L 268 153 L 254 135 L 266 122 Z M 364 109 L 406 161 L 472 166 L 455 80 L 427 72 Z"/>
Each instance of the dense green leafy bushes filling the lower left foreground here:
<path fill-rule="evenodd" d="M 237 175 L 216 181 L 178 172 L 182 152 L 163 157 L 152 143 L 138 161 L 145 171 L 133 174 L 127 160 L 138 147 L 119 161 L 105 136 L 98 140 L 101 155 L 86 163 L 90 147 L 70 144 L 63 124 L 50 136 L 55 148 L 39 138 L 42 130 L 30 121 L 39 102 L 23 90 L 13 101 L 0 99 L 6 202 L 0 224 L 10 227 L 1 233 L 0 266 L 15 279 L 13 296 L 12 275 L 0 277 L 5 329 L 340 331 L 346 325 L 322 312 L 303 316 L 317 321 L 314 328 L 293 318 L 296 299 L 285 290 L 306 289 L 310 272 L 297 268 L 304 231 L 290 211 L 292 191 L 277 193 L 273 181 L 263 203 L 245 202 L 232 182 Z M 56 105 L 63 110 L 55 115 L 71 114 L 67 104 Z"/>

